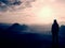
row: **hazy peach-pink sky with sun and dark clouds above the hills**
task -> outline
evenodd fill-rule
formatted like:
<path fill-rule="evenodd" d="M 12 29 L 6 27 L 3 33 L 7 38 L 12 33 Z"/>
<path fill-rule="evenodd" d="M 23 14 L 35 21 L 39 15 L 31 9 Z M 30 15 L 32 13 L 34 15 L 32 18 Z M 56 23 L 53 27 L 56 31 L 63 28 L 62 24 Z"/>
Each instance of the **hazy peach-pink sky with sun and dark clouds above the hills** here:
<path fill-rule="evenodd" d="M 65 0 L 1 0 L 0 22 L 65 23 Z"/>

